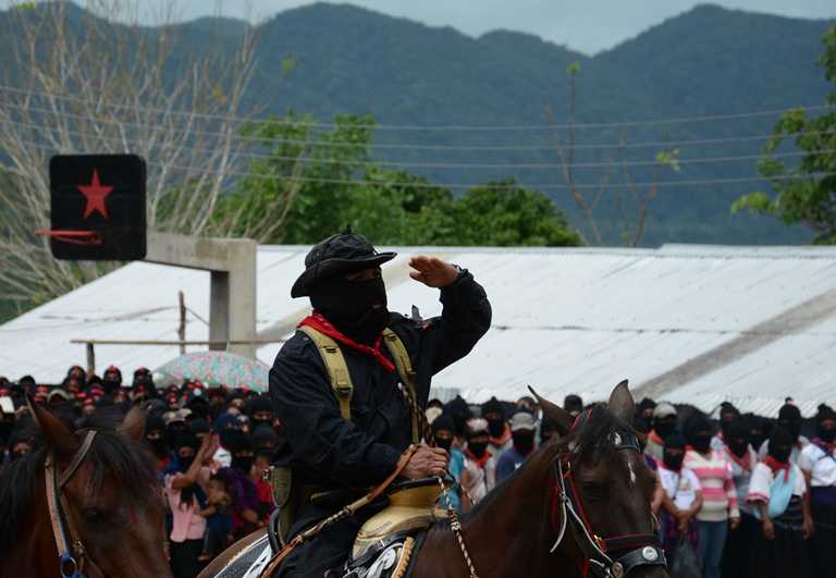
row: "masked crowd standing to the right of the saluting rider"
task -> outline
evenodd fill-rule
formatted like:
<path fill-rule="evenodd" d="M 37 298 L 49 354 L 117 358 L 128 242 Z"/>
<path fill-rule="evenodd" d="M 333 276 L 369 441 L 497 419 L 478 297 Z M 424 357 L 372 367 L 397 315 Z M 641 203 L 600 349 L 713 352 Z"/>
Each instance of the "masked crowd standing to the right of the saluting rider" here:
<path fill-rule="evenodd" d="M 583 403 L 568 395 L 577 416 Z M 468 406 L 431 402 L 438 445 L 451 453 L 467 511 L 555 434 L 536 402 L 495 398 Z M 802 419 L 788 399 L 777 416 L 742 415 L 734 405 L 710 419 L 693 407 L 646 398 L 632 427 L 656 472 L 651 504 L 672 576 L 771 578 L 836 576 L 836 413 L 822 404 Z"/>

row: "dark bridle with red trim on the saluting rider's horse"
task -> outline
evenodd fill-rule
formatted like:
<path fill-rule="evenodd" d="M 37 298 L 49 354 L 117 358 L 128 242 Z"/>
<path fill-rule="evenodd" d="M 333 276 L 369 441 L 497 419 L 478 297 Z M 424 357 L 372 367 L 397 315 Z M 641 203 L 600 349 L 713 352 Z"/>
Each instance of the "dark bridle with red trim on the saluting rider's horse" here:
<path fill-rule="evenodd" d="M 589 411 L 581 414 L 575 426 L 586 421 L 588 415 Z M 607 442 L 612 443 L 616 451 L 626 450 L 642 454 L 638 438 L 630 431 L 612 431 Z M 571 446 L 571 442 L 569 450 L 554 462 L 556 482 L 552 492 L 551 512 L 552 526 L 557 531 L 557 538 L 550 552 L 555 552 L 561 545 L 568 527 L 583 554 L 581 571 L 585 578 L 590 573 L 603 578 L 622 578 L 640 566 L 666 567 L 665 552 L 655 534 L 634 533 L 601 538 L 594 532 L 571 474 L 571 455 L 577 452 L 577 448 Z M 560 524 L 555 521 L 557 515 L 560 515 Z"/>

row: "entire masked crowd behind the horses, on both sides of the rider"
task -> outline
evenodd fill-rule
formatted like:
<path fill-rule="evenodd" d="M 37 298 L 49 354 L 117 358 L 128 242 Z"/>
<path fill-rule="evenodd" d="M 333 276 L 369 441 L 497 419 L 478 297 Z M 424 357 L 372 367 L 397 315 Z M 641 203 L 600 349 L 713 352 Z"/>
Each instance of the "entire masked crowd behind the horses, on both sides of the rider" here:
<path fill-rule="evenodd" d="M 77 422 L 97 410 L 148 408 L 145 443 L 169 504 L 175 577 L 195 576 L 267 524 L 273 505 L 262 471 L 282 444 L 267 395 L 194 381 L 160 388 L 146 369 L 123 383 L 115 367 L 99 378 L 74 366 L 60 386 L 0 378 L 0 467 L 35 443 L 25 393 Z M 585 407 L 577 395 L 563 406 L 573 416 Z M 463 513 L 556 434 L 528 396 L 481 405 L 432 399 L 426 416 L 458 482 L 445 500 Z M 742 415 L 728 403 L 713 416 L 646 398 L 631 423 L 656 472 L 651 507 L 673 575 L 836 576 L 836 413 L 821 405 L 804 420 L 788 401 L 777 416 Z"/>

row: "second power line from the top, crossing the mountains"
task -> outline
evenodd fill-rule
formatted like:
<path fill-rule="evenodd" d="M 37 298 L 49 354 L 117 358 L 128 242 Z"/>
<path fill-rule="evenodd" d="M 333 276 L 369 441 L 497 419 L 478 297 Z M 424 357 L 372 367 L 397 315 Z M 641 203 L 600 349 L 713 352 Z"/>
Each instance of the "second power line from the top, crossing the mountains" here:
<path fill-rule="evenodd" d="M 120 126 L 135 126 L 147 131 L 164 131 L 173 134 L 190 134 L 195 136 L 214 136 L 226 137 L 225 133 L 212 132 L 212 131 L 198 131 L 198 130 L 185 130 L 185 131 L 172 131 L 165 127 L 153 127 L 148 124 L 136 123 L 131 121 L 119 121 L 114 119 L 93 119 L 87 115 L 74 114 L 72 112 L 56 111 L 49 109 L 41 109 L 37 107 L 25 107 L 21 104 L 10 104 L 9 102 L 0 102 L 0 108 L 5 107 L 14 110 L 22 110 L 26 112 L 39 112 L 49 115 L 54 115 L 62 119 L 74 119 L 78 121 L 89 122 L 91 124 L 114 124 Z M 17 122 L 17 121 L 5 121 Z M 276 121 L 281 122 L 281 121 Z M 836 134 L 836 130 L 831 131 L 810 131 L 804 133 L 807 135 L 832 135 Z M 634 148 L 659 148 L 659 147 L 672 147 L 672 146 L 698 146 L 698 145 L 722 145 L 730 143 L 745 143 L 755 140 L 766 140 L 774 136 L 774 134 L 759 134 L 759 135 L 743 135 L 732 137 L 717 137 L 717 138 L 697 138 L 697 139 L 672 139 L 672 140 L 651 140 L 643 143 L 625 143 L 625 144 L 576 144 L 575 150 L 612 150 L 612 149 L 634 149 Z M 265 143 L 265 144 L 286 144 L 286 145 L 299 145 L 308 146 L 311 148 L 349 148 L 358 147 L 357 143 L 345 140 L 330 140 L 327 143 L 319 143 L 316 140 L 306 139 L 293 139 L 281 137 L 262 137 L 251 135 L 233 135 L 233 140 L 249 142 L 249 143 Z M 392 144 L 392 143 L 369 143 L 369 148 L 372 149 L 389 149 L 389 150 L 443 150 L 443 151 L 524 151 L 524 150 L 556 150 L 557 143 L 552 145 L 420 145 L 420 144 Z M 563 144 L 565 146 L 565 144 Z"/>

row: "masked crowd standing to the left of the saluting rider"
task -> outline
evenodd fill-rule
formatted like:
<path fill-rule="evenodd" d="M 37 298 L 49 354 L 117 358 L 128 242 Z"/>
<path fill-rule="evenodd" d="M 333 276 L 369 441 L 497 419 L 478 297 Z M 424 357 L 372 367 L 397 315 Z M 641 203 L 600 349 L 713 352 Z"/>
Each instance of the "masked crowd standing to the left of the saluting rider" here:
<path fill-rule="evenodd" d="M 147 369 L 123 383 L 116 367 L 99 378 L 74 366 L 59 386 L 28 376 L 16 383 L 0 378 L 0 468 L 36 444 L 26 393 L 75 423 L 96 411 L 148 408 L 145 443 L 169 506 L 167 548 L 176 578 L 194 578 L 233 541 L 267 524 L 273 500 L 261 472 L 280 445 L 267 395 L 194 381 L 158 388 Z"/>

